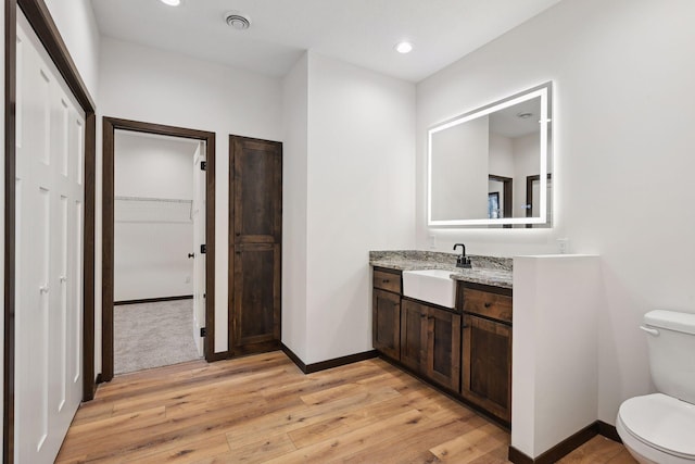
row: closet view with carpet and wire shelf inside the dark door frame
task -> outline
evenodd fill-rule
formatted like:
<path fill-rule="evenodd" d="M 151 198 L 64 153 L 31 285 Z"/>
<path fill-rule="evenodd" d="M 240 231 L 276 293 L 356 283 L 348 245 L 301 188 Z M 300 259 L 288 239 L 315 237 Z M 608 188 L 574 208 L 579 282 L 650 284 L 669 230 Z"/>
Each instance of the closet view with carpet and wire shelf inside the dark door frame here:
<path fill-rule="evenodd" d="M 205 146 L 117 129 L 114 147 L 117 375 L 202 355 Z"/>

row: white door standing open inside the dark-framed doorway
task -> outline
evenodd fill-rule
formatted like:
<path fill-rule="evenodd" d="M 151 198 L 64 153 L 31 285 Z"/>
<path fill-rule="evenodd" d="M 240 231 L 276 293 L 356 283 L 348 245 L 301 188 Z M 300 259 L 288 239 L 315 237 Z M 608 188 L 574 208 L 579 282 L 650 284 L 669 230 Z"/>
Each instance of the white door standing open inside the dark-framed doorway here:
<path fill-rule="evenodd" d="M 193 156 L 193 340 L 198 354 L 203 356 L 203 338 L 200 328 L 205 327 L 205 255 L 200 246 L 205 243 L 205 142 L 201 141 Z"/>

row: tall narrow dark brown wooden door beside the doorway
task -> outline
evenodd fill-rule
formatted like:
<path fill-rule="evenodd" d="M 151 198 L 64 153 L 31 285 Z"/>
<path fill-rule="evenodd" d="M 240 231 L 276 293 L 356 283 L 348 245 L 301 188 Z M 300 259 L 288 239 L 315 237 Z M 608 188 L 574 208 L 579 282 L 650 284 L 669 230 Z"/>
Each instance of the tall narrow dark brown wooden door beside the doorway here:
<path fill-rule="evenodd" d="M 280 340 L 282 145 L 229 137 L 229 308 L 232 354 Z"/>

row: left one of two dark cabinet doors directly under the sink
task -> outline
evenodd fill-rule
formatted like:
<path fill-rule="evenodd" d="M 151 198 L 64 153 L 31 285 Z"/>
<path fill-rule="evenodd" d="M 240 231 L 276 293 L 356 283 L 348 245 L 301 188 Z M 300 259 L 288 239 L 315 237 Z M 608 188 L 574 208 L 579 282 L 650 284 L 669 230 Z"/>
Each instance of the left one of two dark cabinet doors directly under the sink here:
<path fill-rule="evenodd" d="M 427 306 L 401 300 L 401 362 L 416 372 L 424 371 L 427 348 Z"/>

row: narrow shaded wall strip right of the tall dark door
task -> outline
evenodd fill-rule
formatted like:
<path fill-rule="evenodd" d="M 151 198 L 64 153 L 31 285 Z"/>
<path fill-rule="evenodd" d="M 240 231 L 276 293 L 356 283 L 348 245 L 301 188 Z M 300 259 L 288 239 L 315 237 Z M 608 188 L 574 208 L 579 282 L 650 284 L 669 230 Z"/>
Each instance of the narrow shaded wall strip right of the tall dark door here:
<path fill-rule="evenodd" d="M 308 55 L 282 81 L 282 342 L 306 359 Z"/>

